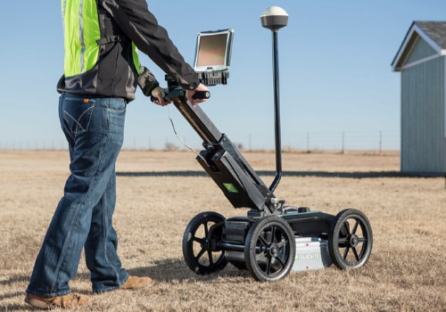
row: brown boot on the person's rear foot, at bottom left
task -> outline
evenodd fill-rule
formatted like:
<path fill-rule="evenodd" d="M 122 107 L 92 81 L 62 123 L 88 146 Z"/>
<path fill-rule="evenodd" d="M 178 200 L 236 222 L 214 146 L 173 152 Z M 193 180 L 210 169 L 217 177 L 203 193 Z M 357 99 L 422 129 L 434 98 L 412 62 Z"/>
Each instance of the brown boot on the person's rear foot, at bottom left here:
<path fill-rule="evenodd" d="M 87 296 L 78 296 L 74 293 L 52 298 L 27 293 L 25 302 L 36 308 L 73 308 L 86 305 L 90 299 Z"/>

